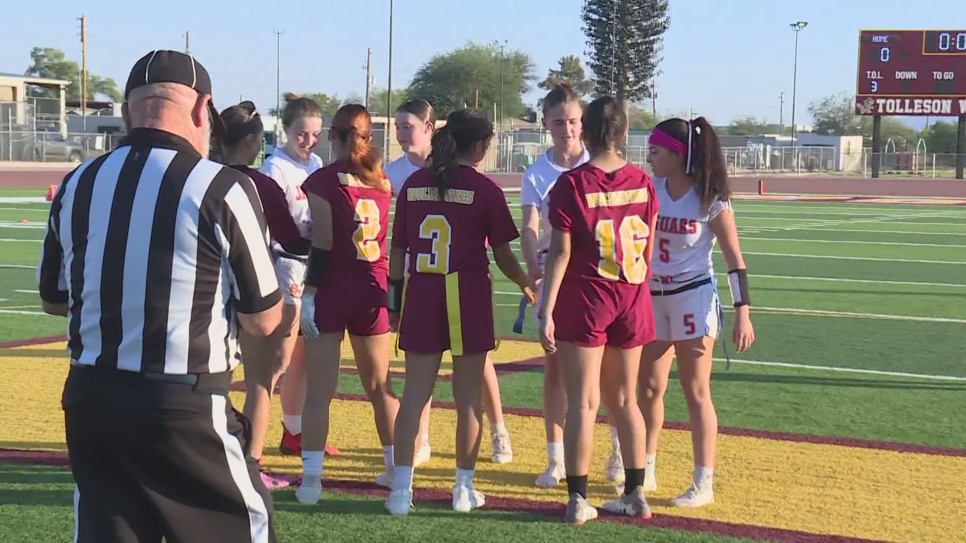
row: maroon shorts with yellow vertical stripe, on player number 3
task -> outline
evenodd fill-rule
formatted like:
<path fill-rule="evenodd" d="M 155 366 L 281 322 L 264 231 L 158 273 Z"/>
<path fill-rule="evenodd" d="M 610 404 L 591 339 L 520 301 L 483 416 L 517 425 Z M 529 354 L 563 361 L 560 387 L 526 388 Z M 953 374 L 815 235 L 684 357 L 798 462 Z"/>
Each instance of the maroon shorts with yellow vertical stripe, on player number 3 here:
<path fill-rule="evenodd" d="M 413 273 L 405 296 L 399 325 L 403 351 L 450 351 L 459 357 L 497 348 L 489 273 Z"/>

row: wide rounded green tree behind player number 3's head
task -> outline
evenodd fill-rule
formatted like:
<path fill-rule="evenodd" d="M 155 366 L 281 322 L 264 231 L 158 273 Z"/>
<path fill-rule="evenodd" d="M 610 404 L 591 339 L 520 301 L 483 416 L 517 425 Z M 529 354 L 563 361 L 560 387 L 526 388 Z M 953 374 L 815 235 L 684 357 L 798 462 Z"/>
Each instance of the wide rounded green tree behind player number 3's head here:
<path fill-rule="evenodd" d="M 533 70 L 533 61 L 528 54 L 504 50 L 502 95 L 505 117 L 512 119 L 526 113 L 523 95 L 536 79 Z M 442 118 L 457 109 L 472 107 L 477 91 L 480 108 L 492 112 L 500 100 L 500 50 L 496 44 L 469 42 L 435 55 L 412 76 L 409 96 L 429 100 Z"/>

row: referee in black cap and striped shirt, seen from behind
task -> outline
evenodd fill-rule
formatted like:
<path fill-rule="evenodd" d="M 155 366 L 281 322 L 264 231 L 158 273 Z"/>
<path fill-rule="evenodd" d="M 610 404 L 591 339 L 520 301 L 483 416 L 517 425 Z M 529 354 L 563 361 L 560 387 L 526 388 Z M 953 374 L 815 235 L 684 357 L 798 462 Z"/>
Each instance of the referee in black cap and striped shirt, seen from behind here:
<path fill-rule="evenodd" d="M 275 540 L 228 386 L 239 327 L 268 335 L 281 295 L 255 186 L 206 158 L 223 130 L 211 95 L 193 57 L 145 55 L 128 137 L 50 208 L 38 282 L 43 310 L 68 318 L 78 543 Z"/>

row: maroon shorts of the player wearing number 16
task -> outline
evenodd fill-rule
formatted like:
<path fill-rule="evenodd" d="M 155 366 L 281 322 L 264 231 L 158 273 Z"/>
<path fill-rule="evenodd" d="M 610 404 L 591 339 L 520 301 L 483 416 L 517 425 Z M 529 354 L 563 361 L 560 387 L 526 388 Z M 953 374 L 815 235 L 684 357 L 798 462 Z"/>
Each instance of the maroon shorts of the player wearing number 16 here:
<path fill-rule="evenodd" d="M 554 305 L 554 336 L 580 347 L 632 349 L 654 341 L 647 285 L 564 279 Z"/>

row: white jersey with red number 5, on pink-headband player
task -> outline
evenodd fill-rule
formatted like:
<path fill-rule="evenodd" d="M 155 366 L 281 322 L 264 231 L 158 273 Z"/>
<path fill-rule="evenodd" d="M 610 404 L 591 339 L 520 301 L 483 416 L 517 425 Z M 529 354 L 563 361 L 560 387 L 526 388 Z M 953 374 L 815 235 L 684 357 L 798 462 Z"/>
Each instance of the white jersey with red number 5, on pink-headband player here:
<path fill-rule="evenodd" d="M 652 279 L 659 281 L 660 275 L 666 282 L 679 283 L 713 273 L 711 251 L 717 238 L 711 221 L 730 210 L 731 203 L 716 200 L 707 213 L 702 213 L 701 199 L 694 188 L 675 201 L 668 194 L 667 179 L 657 178 L 653 182 L 659 208 Z"/>

